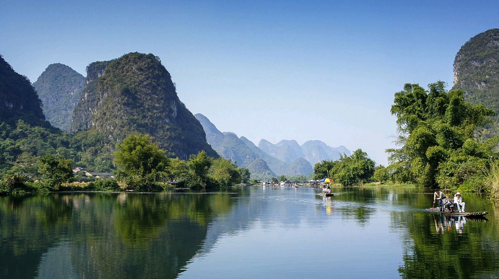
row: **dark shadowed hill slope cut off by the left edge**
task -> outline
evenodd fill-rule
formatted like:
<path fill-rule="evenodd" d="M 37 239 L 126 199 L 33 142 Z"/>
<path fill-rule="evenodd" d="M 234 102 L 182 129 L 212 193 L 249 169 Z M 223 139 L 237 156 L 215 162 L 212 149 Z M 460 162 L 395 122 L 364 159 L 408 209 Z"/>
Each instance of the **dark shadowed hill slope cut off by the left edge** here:
<path fill-rule="evenodd" d="M 29 80 L 0 55 L 0 121 L 9 124 L 23 120 L 31 125 L 49 127 L 42 103 Z"/>

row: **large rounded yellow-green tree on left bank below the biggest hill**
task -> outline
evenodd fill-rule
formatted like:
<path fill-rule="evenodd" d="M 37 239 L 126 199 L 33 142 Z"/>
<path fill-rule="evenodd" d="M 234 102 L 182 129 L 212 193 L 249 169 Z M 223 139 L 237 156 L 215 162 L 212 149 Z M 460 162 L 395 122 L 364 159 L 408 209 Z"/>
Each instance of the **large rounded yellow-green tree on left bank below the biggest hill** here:
<path fill-rule="evenodd" d="M 168 165 L 165 151 L 153 143 L 151 136 L 142 134 L 128 136 L 123 143 L 116 144 L 116 149 L 117 178 L 129 188 L 152 190 Z"/>

